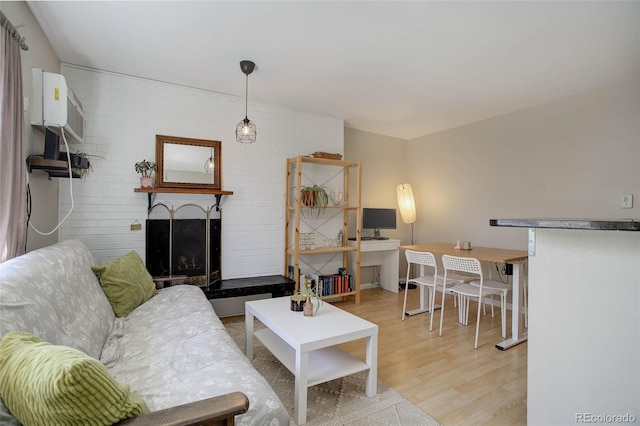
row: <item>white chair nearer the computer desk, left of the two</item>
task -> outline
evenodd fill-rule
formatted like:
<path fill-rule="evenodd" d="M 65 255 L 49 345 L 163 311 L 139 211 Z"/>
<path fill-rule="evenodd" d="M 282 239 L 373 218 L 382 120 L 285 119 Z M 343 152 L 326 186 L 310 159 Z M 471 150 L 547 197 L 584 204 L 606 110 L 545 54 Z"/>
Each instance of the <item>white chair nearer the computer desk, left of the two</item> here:
<path fill-rule="evenodd" d="M 414 310 L 407 312 L 407 290 L 409 288 L 409 284 L 416 284 L 427 287 L 429 289 L 429 307 L 426 312 L 429 312 L 431 315 L 431 320 L 429 323 L 429 331 L 433 330 L 433 310 L 435 308 L 436 301 L 436 291 L 442 291 L 442 282 L 444 282 L 445 278 L 442 275 L 438 274 L 438 265 L 436 263 L 436 259 L 433 253 L 424 252 L 424 251 L 413 251 L 406 250 L 405 256 L 407 258 L 407 279 L 405 280 L 404 287 L 404 304 L 402 305 L 402 320 L 404 321 L 405 316 L 414 315 L 416 313 L 425 312 L 425 310 Z M 411 277 L 411 271 L 413 270 L 412 265 L 419 266 L 416 268 L 419 273 L 417 277 Z M 433 268 L 433 274 L 428 275 L 425 273 L 425 267 Z M 459 284 L 463 282 L 464 279 L 460 277 L 449 278 L 447 280 L 447 284 L 453 286 L 454 284 Z M 449 294 L 452 294 L 449 292 Z M 444 296 L 443 296 L 444 298 Z M 455 299 L 454 299 L 455 301 Z"/>

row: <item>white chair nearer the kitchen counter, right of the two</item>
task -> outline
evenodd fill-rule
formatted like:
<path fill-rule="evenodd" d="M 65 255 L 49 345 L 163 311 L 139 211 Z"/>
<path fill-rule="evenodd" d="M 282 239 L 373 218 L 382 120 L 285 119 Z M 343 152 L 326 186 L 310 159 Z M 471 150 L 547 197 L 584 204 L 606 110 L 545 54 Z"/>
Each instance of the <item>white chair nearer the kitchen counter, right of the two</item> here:
<path fill-rule="evenodd" d="M 484 277 L 482 275 L 482 266 L 480 261 L 471 257 L 458 257 L 442 255 L 442 264 L 444 265 L 444 278 L 445 285 L 443 287 L 442 306 L 440 307 L 440 336 L 442 336 L 442 323 L 444 320 L 444 294 L 446 293 L 447 275 L 451 272 L 465 272 L 468 274 L 476 275 L 480 281 L 478 286 L 474 286 L 468 283 L 458 284 L 451 288 L 451 292 L 458 295 L 458 319 L 461 324 L 467 325 L 469 323 L 469 302 L 471 298 L 478 300 L 478 318 L 476 320 L 476 339 L 474 348 L 478 349 L 478 333 L 480 331 L 480 304 L 482 299 L 486 296 L 494 294 L 501 294 L 499 290 L 490 290 L 484 287 Z M 503 329 L 506 329 L 506 317 L 502 317 Z M 506 333 L 506 332 L 505 332 Z"/>

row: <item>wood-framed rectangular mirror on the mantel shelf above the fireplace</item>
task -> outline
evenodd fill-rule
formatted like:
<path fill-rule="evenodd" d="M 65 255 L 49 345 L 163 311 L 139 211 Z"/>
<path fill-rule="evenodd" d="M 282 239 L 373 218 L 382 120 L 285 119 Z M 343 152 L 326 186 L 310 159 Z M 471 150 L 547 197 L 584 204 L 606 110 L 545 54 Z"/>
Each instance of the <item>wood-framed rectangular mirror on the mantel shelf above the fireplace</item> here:
<path fill-rule="evenodd" d="M 159 188 L 222 189 L 220 141 L 156 135 Z"/>

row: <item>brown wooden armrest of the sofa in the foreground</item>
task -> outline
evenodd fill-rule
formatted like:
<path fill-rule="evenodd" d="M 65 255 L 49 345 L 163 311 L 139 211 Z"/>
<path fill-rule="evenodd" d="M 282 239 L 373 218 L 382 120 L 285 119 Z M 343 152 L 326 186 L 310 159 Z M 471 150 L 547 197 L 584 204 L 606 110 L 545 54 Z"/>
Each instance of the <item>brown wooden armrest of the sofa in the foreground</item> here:
<path fill-rule="evenodd" d="M 214 426 L 234 425 L 236 414 L 246 413 L 249 399 L 242 392 L 231 392 L 213 398 L 152 411 L 138 417 L 123 420 L 118 425 L 127 426 Z"/>

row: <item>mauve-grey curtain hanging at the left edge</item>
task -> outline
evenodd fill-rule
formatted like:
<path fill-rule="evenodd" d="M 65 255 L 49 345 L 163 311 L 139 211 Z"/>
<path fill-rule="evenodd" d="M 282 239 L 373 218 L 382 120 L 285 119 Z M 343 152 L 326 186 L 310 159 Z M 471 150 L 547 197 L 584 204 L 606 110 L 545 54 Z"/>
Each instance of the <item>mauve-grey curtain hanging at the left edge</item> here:
<path fill-rule="evenodd" d="M 0 262 L 26 250 L 21 37 L 0 11 Z"/>

